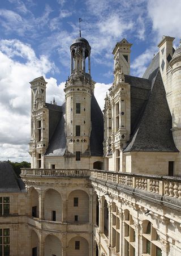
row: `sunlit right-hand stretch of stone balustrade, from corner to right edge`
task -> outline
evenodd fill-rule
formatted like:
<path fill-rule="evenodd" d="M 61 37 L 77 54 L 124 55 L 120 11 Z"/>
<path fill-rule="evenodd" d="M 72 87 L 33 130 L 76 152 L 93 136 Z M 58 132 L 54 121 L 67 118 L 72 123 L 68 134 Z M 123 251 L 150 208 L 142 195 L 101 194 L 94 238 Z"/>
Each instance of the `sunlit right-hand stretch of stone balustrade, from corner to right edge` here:
<path fill-rule="evenodd" d="M 91 179 L 104 181 L 108 186 L 109 183 L 115 183 L 115 186 L 120 184 L 152 194 L 181 199 L 181 177 L 91 170 Z"/>

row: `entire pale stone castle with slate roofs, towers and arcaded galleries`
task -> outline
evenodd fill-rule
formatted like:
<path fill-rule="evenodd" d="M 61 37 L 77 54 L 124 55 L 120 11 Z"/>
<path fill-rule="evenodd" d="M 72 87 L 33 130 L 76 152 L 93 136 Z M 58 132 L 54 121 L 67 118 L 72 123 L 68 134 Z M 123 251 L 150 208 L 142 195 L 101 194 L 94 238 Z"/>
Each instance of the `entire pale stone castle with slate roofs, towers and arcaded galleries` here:
<path fill-rule="evenodd" d="M 31 82 L 31 169 L 0 164 L 0 255 L 181 256 L 181 43 L 163 36 L 143 78 L 115 45 L 104 113 L 91 46 L 70 47 L 62 106 Z"/>

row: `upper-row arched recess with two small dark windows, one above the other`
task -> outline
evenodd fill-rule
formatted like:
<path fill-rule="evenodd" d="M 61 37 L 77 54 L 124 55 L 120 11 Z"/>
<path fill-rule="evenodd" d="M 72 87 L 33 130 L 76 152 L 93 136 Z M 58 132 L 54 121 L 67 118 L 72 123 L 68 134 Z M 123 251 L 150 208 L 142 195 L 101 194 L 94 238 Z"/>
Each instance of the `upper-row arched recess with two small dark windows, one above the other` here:
<path fill-rule="evenodd" d="M 68 223 L 89 222 L 89 196 L 83 190 L 74 190 L 68 195 Z"/>

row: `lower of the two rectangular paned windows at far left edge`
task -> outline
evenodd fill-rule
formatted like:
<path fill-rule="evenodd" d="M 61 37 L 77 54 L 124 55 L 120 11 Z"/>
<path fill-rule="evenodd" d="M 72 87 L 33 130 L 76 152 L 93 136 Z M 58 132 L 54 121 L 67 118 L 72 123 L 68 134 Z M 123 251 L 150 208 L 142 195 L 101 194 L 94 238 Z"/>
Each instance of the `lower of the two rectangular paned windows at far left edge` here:
<path fill-rule="evenodd" d="M 0 256 L 10 256 L 10 229 L 0 229 Z"/>

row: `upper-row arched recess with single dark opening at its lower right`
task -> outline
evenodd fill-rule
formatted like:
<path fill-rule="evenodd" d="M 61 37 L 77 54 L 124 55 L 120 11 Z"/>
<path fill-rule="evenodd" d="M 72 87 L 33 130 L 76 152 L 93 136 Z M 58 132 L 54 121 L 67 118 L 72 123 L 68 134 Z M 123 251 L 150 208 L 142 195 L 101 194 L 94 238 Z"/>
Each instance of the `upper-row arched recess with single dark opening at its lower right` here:
<path fill-rule="evenodd" d="M 62 199 L 61 195 L 53 189 L 45 193 L 44 216 L 45 220 L 61 221 L 62 220 Z"/>

